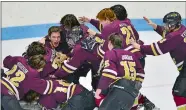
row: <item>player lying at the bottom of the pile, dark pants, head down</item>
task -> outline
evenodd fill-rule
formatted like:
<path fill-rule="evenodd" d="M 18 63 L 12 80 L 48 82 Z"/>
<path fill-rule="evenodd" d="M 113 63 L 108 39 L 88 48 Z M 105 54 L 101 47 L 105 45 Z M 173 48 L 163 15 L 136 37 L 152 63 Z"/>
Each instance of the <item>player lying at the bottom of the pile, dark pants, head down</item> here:
<path fill-rule="evenodd" d="M 79 84 L 70 84 L 66 81 L 59 81 L 58 92 L 51 95 L 40 95 L 30 91 L 25 96 L 27 102 L 38 100 L 42 110 L 93 110 L 95 108 L 94 95 L 92 91 Z"/>

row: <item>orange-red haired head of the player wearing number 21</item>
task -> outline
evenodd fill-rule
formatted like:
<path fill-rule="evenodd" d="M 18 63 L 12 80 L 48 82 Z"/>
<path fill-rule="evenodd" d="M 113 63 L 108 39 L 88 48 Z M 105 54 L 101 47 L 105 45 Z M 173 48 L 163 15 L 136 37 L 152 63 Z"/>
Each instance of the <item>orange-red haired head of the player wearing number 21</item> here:
<path fill-rule="evenodd" d="M 100 22 L 112 22 L 116 20 L 116 15 L 114 11 L 112 11 L 110 8 L 104 8 L 102 9 L 96 16 L 96 18 Z"/>

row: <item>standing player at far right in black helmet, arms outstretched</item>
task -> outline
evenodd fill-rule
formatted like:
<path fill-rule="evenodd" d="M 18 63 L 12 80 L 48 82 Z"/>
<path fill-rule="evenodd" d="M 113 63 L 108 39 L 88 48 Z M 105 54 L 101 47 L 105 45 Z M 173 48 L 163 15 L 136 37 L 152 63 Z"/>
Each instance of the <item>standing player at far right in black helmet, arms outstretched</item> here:
<path fill-rule="evenodd" d="M 139 45 L 131 40 L 132 45 L 147 55 L 162 55 L 170 53 L 175 65 L 180 72 L 173 87 L 173 97 L 178 110 L 186 110 L 186 74 L 184 72 L 184 59 L 186 58 L 186 28 L 181 24 L 181 15 L 170 12 L 163 18 L 164 26 L 153 23 L 148 18 L 144 19 L 163 39 L 151 45 Z"/>

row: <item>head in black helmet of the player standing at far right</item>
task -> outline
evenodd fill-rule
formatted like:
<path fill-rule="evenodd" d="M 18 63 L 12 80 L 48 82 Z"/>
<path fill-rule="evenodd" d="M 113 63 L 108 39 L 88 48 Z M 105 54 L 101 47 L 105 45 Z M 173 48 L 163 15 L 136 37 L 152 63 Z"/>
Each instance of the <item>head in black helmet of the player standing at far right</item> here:
<path fill-rule="evenodd" d="M 178 12 L 170 12 L 163 18 L 164 27 L 167 31 L 173 31 L 181 26 L 181 15 Z"/>

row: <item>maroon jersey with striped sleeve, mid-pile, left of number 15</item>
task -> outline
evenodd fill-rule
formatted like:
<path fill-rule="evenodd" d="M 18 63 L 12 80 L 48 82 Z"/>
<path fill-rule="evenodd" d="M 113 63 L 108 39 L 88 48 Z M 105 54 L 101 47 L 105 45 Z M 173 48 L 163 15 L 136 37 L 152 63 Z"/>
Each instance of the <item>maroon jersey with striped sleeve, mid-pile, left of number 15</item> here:
<path fill-rule="evenodd" d="M 96 48 L 95 48 L 96 50 Z M 81 45 L 77 44 L 73 49 L 72 58 L 65 60 L 62 67 L 60 67 L 56 72 L 56 77 L 64 77 L 71 73 L 74 73 L 77 68 L 80 67 L 85 61 L 90 62 L 93 66 L 93 70 L 99 69 L 99 63 L 101 59 L 97 56 L 96 51 L 88 52 L 85 49 L 81 48 Z"/>

